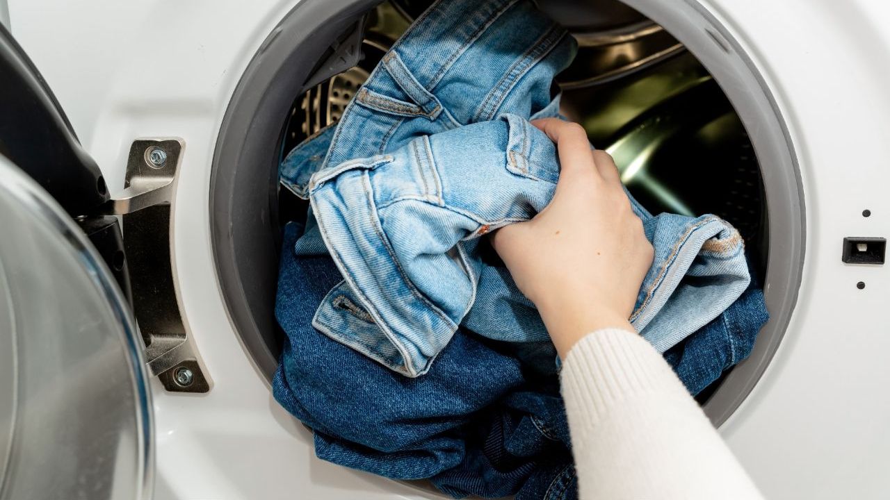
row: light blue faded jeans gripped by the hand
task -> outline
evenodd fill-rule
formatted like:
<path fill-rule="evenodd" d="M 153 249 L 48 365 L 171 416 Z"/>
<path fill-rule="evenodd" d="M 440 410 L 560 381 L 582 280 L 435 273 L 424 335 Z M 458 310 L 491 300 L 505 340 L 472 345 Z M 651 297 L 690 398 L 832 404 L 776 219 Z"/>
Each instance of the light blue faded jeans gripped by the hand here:
<path fill-rule="evenodd" d="M 571 36 L 529 0 L 433 4 L 392 46 L 336 127 L 295 148 L 282 183 L 308 197 L 344 282 L 313 318 L 321 332 L 409 377 L 464 324 L 514 343 L 547 338 L 480 237 L 553 197 L 554 144 L 530 125 L 558 115 L 553 78 Z M 715 319 L 748 286 L 739 233 L 714 215 L 643 219 L 655 260 L 633 325 L 659 351 Z"/>

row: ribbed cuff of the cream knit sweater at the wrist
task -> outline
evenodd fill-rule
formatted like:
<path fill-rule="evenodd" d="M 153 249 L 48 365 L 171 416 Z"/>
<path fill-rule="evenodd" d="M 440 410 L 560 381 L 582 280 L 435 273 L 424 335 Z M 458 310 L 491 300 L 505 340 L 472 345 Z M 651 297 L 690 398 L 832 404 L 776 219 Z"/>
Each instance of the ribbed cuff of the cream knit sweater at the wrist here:
<path fill-rule="evenodd" d="M 616 399 L 651 392 L 689 398 L 659 352 L 627 330 L 606 328 L 587 335 L 571 348 L 562 365 L 566 410 L 586 415 L 588 425 L 598 423 Z"/>

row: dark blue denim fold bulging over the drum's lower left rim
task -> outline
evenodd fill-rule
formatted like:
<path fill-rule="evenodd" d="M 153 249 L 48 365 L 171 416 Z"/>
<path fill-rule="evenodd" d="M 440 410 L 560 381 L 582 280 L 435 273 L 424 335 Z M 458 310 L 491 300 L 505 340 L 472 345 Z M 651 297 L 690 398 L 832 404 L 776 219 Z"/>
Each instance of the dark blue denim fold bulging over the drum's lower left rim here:
<path fill-rule="evenodd" d="M 459 427 L 525 382 L 519 359 L 475 335 L 456 335 L 428 376 L 407 378 L 312 328 L 312 315 L 343 278 L 329 256 L 295 257 L 287 225 L 276 317 L 287 334 L 275 398 L 315 431 L 325 460 L 393 479 L 423 479 L 465 456 Z M 486 341 L 490 342 L 490 341 Z"/>

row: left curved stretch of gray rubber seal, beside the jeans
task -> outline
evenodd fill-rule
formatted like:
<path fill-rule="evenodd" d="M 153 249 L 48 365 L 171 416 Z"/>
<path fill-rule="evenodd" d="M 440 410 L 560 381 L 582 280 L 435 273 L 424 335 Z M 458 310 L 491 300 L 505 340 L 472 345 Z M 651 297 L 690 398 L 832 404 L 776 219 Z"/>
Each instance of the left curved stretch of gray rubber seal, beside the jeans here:
<path fill-rule="evenodd" d="M 282 124 L 329 44 L 379 0 L 303 0 L 247 65 L 210 175 L 214 262 L 231 321 L 271 380 L 278 365 L 278 161 Z"/>

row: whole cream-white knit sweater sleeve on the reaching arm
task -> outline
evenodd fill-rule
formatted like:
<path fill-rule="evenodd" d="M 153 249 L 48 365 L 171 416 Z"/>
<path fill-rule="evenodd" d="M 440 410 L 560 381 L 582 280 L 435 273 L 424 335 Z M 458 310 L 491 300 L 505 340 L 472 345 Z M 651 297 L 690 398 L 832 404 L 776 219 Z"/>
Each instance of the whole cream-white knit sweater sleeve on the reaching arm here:
<path fill-rule="evenodd" d="M 604 329 L 571 349 L 562 396 L 582 500 L 762 498 L 667 362 Z"/>

